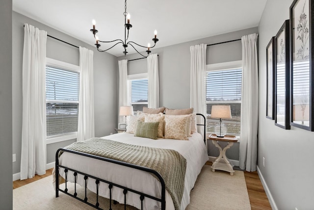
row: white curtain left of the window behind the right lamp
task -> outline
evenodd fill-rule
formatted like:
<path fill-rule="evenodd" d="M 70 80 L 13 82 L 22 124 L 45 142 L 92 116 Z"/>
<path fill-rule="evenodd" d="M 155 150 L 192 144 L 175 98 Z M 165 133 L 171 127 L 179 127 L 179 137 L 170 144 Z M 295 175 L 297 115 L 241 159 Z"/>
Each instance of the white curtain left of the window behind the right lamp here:
<path fill-rule="evenodd" d="M 190 47 L 191 52 L 191 79 L 190 79 L 190 107 L 194 112 L 201 113 L 206 117 L 206 44 L 200 44 Z M 204 123 L 204 120 L 197 117 L 197 124 Z M 198 128 L 202 135 L 204 130 Z"/>

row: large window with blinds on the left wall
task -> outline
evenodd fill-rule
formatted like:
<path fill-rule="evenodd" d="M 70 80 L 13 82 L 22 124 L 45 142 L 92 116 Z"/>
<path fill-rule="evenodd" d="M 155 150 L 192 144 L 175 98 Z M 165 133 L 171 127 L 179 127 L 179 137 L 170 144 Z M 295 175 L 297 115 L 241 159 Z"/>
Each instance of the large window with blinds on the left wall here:
<path fill-rule="evenodd" d="M 47 58 L 46 124 L 48 143 L 52 143 L 52 139 L 53 142 L 57 142 L 76 138 L 78 131 L 78 71 L 78 66 Z"/>

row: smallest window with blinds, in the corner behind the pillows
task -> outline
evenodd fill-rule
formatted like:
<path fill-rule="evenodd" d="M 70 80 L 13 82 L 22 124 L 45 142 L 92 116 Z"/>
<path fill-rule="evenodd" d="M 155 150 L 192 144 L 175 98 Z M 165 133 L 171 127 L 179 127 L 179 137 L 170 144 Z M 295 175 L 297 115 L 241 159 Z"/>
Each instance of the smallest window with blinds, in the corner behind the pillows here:
<path fill-rule="evenodd" d="M 148 106 L 148 76 L 147 74 L 129 75 L 131 105 L 133 111 L 142 111 Z"/>

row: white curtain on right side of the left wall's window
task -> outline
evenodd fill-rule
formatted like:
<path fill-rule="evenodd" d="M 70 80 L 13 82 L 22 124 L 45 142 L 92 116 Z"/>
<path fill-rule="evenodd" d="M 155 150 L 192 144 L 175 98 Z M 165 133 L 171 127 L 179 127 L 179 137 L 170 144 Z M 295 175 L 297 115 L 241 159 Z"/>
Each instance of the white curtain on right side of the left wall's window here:
<path fill-rule="evenodd" d="M 94 125 L 94 52 L 79 47 L 78 138 L 84 141 L 95 137 Z"/>

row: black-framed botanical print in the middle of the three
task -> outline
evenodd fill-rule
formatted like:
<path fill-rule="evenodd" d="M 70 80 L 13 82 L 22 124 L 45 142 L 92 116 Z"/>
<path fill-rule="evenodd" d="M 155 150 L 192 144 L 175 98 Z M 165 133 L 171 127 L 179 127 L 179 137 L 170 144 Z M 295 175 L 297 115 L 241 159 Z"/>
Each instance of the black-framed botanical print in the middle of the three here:
<path fill-rule="evenodd" d="M 275 125 L 290 129 L 289 120 L 289 20 L 275 36 Z"/>

